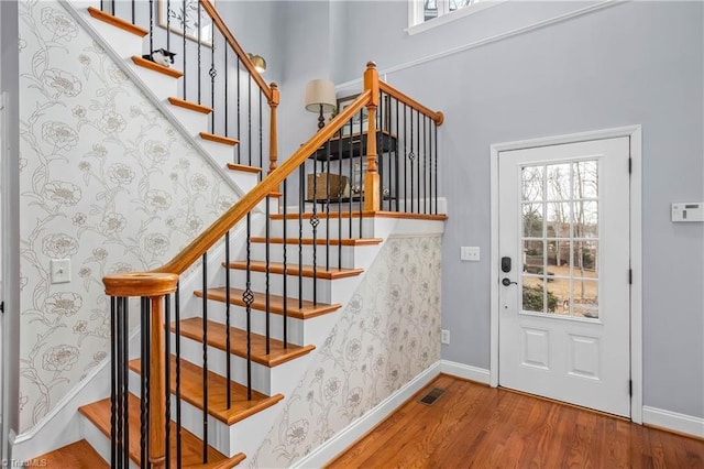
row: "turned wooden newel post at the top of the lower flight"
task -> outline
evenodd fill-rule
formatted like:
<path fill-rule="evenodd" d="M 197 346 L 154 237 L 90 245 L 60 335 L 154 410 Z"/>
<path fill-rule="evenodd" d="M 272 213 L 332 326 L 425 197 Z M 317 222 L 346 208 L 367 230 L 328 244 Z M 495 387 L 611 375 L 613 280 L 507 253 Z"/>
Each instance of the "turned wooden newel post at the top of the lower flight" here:
<path fill-rule="evenodd" d="M 378 72 L 376 64 L 367 62 L 364 72 L 364 90 L 371 90 L 366 105 L 369 120 L 366 128 L 366 174 L 364 175 L 364 209 L 377 211 L 381 206 L 380 178 L 376 170 L 376 108 L 378 107 Z"/>

